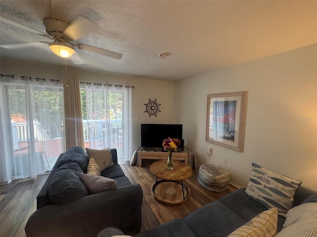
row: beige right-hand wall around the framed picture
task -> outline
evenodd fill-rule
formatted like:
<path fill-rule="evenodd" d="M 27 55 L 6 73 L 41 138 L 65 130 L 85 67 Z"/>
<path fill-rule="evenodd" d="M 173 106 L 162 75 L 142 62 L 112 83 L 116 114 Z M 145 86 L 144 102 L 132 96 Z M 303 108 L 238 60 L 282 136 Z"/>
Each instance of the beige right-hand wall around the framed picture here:
<path fill-rule="evenodd" d="M 233 91 L 249 92 L 243 153 L 205 141 L 207 95 Z M 175 121 L 200 164 L 245 187 L 255 162 L 317 191 L 317 44 L 180 80 L 175 98 Z"/>

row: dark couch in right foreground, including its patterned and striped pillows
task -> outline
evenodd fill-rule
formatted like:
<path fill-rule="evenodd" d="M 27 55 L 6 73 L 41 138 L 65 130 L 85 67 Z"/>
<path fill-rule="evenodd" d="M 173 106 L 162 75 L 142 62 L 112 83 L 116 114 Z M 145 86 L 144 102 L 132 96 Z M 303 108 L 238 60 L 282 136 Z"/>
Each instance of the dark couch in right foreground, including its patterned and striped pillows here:
<path fill-rule="evenodd" d="M 301 184 L 252 163 L 247 188 L 135 237 L 317 237 L 317 194 Z"/>

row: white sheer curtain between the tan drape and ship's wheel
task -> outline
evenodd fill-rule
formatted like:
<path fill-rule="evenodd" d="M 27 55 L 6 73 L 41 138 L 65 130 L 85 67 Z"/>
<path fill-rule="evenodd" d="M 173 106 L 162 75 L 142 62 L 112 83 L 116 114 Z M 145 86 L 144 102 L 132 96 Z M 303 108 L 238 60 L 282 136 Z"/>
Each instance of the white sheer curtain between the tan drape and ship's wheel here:
<path fill-rule="evenodd" d="M 116 148 L 118 159 L 132 154 L 131 88 L 86 83 L 82 90 L 85 146 Z"/>

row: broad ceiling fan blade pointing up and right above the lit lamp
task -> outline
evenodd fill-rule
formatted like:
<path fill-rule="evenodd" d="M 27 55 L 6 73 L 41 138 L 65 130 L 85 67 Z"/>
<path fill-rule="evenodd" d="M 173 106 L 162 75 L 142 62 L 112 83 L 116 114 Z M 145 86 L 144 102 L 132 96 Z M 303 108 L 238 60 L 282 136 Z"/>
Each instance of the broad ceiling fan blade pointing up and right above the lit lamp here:
<path fill-rule="evenodd" d="M 64 30 L 64 35 L 70 40 L 78 40 L 98 30 L 98 25 L 87 17 L 80 16 Z"/>

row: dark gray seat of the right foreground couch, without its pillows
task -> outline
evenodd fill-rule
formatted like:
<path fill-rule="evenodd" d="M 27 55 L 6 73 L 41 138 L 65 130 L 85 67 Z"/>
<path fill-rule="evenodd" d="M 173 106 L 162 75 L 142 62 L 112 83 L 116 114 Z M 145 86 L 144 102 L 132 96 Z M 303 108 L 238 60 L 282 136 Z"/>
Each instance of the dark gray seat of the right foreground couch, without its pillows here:
<path fill-rule="evenodd" d="M 309 196 L 304 201 L 317 202 L 317 195 Z M 249 197 L 245 189 L 239 189 L 219 201 L 204 205 L 183 220 L 175 219 L 166 222 L 134 237 L 227 237 L 265 210 L 267 208 Z M 285 218 L 278 216 L 278 232 L 282 229 L 284 222 Z M 123 235 L 124 232 L 107 228 L 98 237 L 110 237 L 113 233 Z"/>

